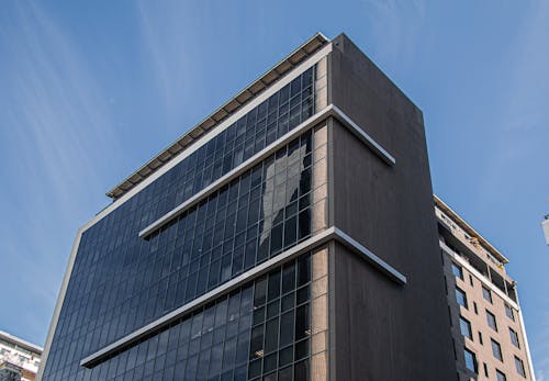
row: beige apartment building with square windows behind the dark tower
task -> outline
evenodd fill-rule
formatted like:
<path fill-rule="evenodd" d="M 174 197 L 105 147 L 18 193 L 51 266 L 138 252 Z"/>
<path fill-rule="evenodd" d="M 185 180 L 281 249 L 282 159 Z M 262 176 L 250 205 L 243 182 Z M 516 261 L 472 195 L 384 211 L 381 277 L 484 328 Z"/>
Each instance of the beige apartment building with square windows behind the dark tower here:
<path fill-rule="evenodd" d="M 435 195 L 458 379 L 535 380 L 507 258 Z"/>

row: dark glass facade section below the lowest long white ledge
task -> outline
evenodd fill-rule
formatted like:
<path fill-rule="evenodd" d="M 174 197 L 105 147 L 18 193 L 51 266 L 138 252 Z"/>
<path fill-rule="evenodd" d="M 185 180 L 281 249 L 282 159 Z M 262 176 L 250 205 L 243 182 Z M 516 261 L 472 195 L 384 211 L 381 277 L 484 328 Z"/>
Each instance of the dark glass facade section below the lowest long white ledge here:
<path fill-rule="evenodd" d="M 311 256 L 87 370 L 90 380 L 307 380 Z"/>

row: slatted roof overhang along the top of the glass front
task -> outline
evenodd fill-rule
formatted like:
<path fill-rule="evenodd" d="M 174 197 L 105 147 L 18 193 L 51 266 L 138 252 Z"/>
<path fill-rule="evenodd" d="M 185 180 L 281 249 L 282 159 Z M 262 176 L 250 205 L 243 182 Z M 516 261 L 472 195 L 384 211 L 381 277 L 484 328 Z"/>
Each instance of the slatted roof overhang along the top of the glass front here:
<path fill-rule="evenodd" d="M 202 122 L 197 124 L 193 128 L 189 130 L 186 134 L 180 136 L 175 143 L 161 150 L 154 158 L 148 160 L 144 166 L 125 178 L 116 187 L 111 189 L 105 194 L 114 201 L 124 195 L 139 182 L 153 175 L 160 167 L 166 165 L 182 150 L 187 149 L 204 134 L 234 114 L 242 107 L 247 104 L 251 99 L 256 98 L 264 90 L 272 86 L 285 74 L 292 70 L 295 66 L 300 65 L 311 55 L 329 43 L 329 40 L 322 33 L 316 33 L 305 43 L 300 45 L 295 51 L 290 53 L 281 61 L 274 65 L 271 69 L 267 70 L 257 80 L 247 86 L 238 94 L 225 102 L 221 108 L 208 115 Z"/>

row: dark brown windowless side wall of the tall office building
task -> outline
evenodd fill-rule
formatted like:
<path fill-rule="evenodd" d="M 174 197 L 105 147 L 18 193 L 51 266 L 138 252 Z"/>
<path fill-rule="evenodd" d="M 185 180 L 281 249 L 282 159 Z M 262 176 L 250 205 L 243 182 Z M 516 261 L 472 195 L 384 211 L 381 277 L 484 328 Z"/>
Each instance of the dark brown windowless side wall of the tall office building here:
<path fill-rule="evenodd" d="M 336 379 L 452 380 L 422 113 L 345 35 L 334 40 L 329 70 L 329 101 L 396 159 L 388 166 L 330 124 L 334 224 L 407 279 L 390 282 L 336 246 Z"/>

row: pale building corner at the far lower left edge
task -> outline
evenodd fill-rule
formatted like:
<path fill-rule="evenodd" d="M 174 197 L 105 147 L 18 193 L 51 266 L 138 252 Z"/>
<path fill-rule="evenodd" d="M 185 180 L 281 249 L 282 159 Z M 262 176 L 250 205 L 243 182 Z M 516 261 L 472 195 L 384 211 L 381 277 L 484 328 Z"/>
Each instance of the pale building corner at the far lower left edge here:
<path fill-rule="evenodd" d="M 42 348 L 0 330 L 0 381 L 34 381 Z"/>

